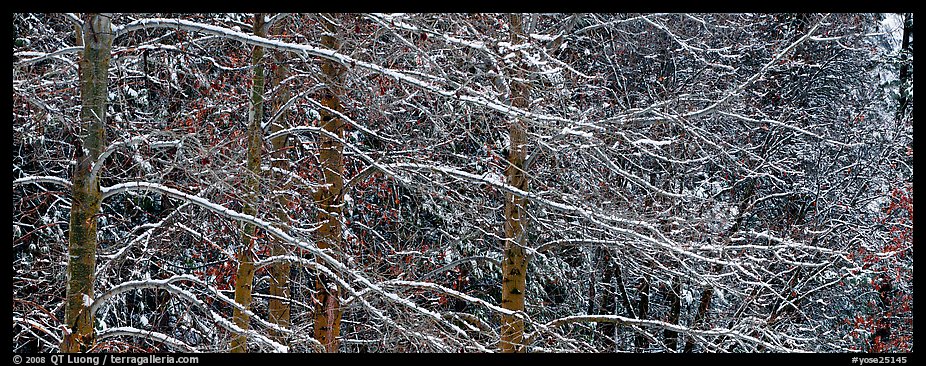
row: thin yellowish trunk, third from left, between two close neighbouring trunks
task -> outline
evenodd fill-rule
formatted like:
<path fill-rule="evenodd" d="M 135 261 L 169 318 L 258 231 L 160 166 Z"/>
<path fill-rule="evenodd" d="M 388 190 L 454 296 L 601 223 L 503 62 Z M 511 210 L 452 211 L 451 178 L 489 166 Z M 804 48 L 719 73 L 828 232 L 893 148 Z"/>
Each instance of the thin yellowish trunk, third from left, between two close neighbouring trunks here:
<path fill-rule="evenodd" d="M 276 119 L 272 125 L 270 125 L 271 134 L 278 132 L 283 129 L 284 124 L 287 123 L 289 113 L 286 110 L 281 110 L 286 101 L 291 97 L 291 91 L 289 86 L 283 84 L 282 81 L 289 77 L 289 68 L 286 66 L 286 55 L 282 52 L 273 53 L 274 61 L 276 63 L 275 68 L 273 69 L 273 78 L 272 83 L 277 87 L 277 93 L 273 99 L 273 112 L 274 115 L 279 113 L 279 117 Z M 286 136 L 278 136 L 270 140 L 270 145 L 273 147 L 273 152 L 271 153 L 271 166 L 281 169 L 290 169 L 287 159 L 287 144 Z M 279 177 L 276 179 L 278 182 L 285 181 L 286 178 Z M 289 187 L 287 184 L 284 187 L 284 191 Z M 289 226 L 289 215 L 286 213 L 286 208 L 289 206 L 289 198 L 285 194 L 277 196 L 277 203 L 279 207 L 276 210 L 277 221 L 280 223 L 284 230 L 288 229 Z M 273 247 L 270 249 L 270 254 L 273 256 L 286 255 L 290 254 L 290 251 L 283 246 L 279 241 L 273 242 Z M 270 290 L 269 293 L 273 298 L 270 299 L 268 307 L 270 311 L 270 321 L 279 325 L 283 328 L 289 328 L 290 318 L 289 318 L 289 302 L 283 299 L 289 299 L 289 271 L 290 264 L 289 262 L 279 262 L 275 263 L 270 267 Z M 289 345 L 289 340 L 285 334 L 273 331 L 271 333 L 273 338 L 283 345 Z"/>

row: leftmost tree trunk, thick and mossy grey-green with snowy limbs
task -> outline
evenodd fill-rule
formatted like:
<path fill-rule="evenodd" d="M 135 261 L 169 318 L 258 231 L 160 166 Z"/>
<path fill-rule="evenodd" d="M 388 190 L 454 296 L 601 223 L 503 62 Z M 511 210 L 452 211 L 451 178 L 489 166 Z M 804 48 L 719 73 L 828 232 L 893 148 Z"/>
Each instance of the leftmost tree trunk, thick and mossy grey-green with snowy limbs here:
<path fill-rule="evenodd" d="M 84 352 L 93 346 L 94 273 L 96 272 L 97 214 L 100 212 L 100 182 L 93 174 L 106 144 L 106 102 L 110 51 L 113 44 L 111 14 L 85 14 L 80 56 L 80 133 L 71 187 L 71 217 L 68 229 L 68 278 L 65 304 L 65 336 L 62 352 Z M 98 169 L 97 169 L 98 171 Z"/>

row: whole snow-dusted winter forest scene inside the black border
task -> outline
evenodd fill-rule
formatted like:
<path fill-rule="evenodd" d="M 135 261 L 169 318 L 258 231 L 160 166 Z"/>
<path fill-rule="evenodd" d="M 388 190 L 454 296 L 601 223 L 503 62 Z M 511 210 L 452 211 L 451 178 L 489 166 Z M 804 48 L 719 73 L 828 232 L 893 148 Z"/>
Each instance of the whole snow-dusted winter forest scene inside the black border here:
<path fill-rule="evenodd" d="M 912 350 L 912 13 L 12 32 L 14 352 Z"/>

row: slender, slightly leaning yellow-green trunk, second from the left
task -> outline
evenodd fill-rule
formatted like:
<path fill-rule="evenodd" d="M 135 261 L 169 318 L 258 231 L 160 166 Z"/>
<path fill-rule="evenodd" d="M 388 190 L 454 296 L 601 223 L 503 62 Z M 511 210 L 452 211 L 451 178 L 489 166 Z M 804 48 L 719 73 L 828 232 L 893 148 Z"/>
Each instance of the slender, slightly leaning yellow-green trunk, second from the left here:
<path fill-rule="evenodd" d="M 254 14 L 254 34 L 264 37 L 264 14 Z M 251 65 L 254 73 L 251 75 L 251 103 L 248 110 L 248 151 L 247 168 L 244 179 L 244 207 L 242 212 L 246 215 L 256 216 L 258 191 L 260 189 L 258 177 L 260 175 L 260 153 L 263 145 L 260 128 L 264 106 L 264 68 L 261 59 L 264 57 L 263 47 L 254 47 L 251 54 Z M 257 228 L 253 224 L 244 224 L 241 233 L 241 243 L 235 256 L 238 259 L 238 275 L 235 279 L 235 302 L 250 310 L 252 300 L 252 286 L 254 282 L 254 234 Z M 251 317 L 235 308 L 233 312 L 235 325 L 247 330 Z M 248 342 L 244 334 L 235 335 L 231 341 L 231 352 L 247 352 Z"/>

